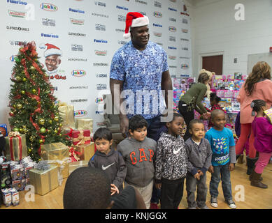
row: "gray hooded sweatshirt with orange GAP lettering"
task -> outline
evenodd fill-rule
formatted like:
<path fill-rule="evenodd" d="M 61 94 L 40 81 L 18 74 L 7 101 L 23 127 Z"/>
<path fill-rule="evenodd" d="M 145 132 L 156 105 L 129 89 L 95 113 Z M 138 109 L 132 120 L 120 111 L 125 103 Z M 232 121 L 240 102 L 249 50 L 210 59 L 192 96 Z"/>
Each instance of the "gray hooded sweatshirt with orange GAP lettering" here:
<path fill-rule="evenodd" d="M 137 187 L 147 186 L 154 178 L 154 162 L 157 143 L 145 137 L 143 141 L 126 138 L 117 146 L 127 166 L 125 181 Z"/>

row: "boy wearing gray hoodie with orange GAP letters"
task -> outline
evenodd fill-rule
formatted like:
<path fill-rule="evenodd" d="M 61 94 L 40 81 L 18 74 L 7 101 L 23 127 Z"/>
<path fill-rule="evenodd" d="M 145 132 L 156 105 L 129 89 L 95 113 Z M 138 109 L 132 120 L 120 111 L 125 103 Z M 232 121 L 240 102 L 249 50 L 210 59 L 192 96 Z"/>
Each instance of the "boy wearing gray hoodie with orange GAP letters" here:
<path fill-rule="evenodd" d="M 130 138 L 126 138 L 117 146 L 124 157 L 127 166 L 127 176 L 124 179 L 124 187 L 132 185 L 140 192 L 145 206 L 150 208 L 154 178 L 154 160 L 157 143 L 146 137 L 148 123 L 140 115 L 129 119 Z"/>

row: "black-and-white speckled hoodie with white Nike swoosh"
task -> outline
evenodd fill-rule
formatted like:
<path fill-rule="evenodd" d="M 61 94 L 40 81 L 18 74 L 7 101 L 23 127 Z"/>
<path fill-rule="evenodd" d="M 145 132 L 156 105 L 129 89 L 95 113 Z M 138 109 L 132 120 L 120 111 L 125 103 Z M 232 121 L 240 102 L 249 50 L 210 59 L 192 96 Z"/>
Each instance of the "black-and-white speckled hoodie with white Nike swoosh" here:
<path fill-rule="evenodd" d="M 162 132 L 158 140 L 156 154 L 156 182 L 160 183 L 162 178 L 167 180 L 178 180 L 187 174 L 187 153 L 185 142 L 180 135 L 174 137 Z"/>

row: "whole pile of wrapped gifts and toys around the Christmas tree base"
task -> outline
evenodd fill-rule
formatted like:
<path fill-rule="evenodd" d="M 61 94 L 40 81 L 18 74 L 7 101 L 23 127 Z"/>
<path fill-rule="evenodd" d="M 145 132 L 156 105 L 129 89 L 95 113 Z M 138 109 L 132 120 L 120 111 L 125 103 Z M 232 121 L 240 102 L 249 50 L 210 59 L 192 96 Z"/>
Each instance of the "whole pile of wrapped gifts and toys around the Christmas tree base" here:
<path fill-rule="evenodd" d="M 34 186 L 36 194 L 44 195 L 62 185 L 78 167 L 87 167 L 95 148 L 92 141 L 91 118 L 76 118 L 72 105 L 59 105 L 63 130 L 69 135 L 72 146 L 61 142 L 41 145 L 41 161 L 36 163 L 27 155 L 25 134 L 9 132 L 5 124 L 0 130 L 5 139 L 4 155 L 0 156 L 0 205 L 16 206 L 19 192 Z M 0 131 L 1 133 L 1 131 Z M 0 153 L 1 155 L 1 153 Z"/>

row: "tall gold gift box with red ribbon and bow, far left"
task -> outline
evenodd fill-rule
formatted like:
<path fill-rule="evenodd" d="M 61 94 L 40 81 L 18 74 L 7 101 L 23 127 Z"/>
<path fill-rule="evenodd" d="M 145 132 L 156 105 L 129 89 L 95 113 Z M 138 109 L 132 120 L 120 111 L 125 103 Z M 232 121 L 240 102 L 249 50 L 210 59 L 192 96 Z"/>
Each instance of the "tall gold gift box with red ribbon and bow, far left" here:
<path fill-rule="evenodd" d="M 5 155 L 8 160 L 19 161 L 27 157 L 25 134 L 10 132 L 6 139 Z"/>

